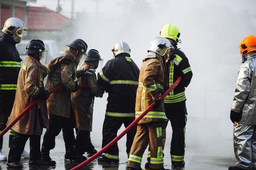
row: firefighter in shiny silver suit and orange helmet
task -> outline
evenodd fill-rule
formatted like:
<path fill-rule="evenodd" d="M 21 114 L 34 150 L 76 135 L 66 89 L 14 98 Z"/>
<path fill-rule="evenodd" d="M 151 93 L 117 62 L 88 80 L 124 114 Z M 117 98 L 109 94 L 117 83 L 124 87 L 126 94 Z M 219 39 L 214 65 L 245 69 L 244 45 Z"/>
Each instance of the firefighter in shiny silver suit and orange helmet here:
<path fill-rule="evenodd" d="M 256 169 L 256 37 L 249 35 L 240 42 L 242 64 L 238 69 L 235 96 L 230 111 L 234 123 L 234 152 L 238 160 L 229 170 Z"/>

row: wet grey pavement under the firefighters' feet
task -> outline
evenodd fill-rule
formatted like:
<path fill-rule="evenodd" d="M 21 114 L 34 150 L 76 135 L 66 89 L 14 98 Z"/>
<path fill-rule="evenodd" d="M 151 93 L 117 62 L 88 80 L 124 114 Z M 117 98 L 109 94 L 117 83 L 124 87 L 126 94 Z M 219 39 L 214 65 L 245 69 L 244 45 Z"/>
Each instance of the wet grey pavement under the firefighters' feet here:
<path fill-rule="evenodd" d="M 186 130 L 186 148 L 185 148 L 185 168 L 184 170 L 227 170 L 229 166 L 234 166 L 236 159 L 234 157 L 233 141 L 231 135 L 223 137 L 223 135 L 213 126 L 200 126 L 198 120 L 194 125 L 187 125 Z M 198 128 L 197 126 L 201 127 Z M 232 126 L 232 125 L 231 125 Z M 208 133 L 204 130 L 208 129 Z M 192 133 L 193 131 L 193 133 Z M 209 133 L 211 132 L 211 133 Z M 96 133 L 96 134 L 95 134 Z M 7 135 L 8 134 L 8 135 Z M 4 144 L 2 152 L 4 155 L 8 155 L 8 139 L 9 133 L 4 135 Z M 44 134 L 44 133 L 43 133 Z M 171 128 L 168 125 L 166 131 L 166 146 L 164 148 L 164 168 L 171 169 L 171 157 L 169 154 L 171 143 Z M 123 137 L 126 138 L 126 137 Z M 101 165 L 98 164 L 97 159 L 83 166 L 81 170 L 128 170 L 127 155 L 125 148 L 125 139 L 118 141 L 119 145 L 119 165 Z M 94 132 L 91 134 L 92 143 L 96 150 L 100 150 L 101 146 L 101 132 Z M 43 141 L 43 135 L 41 142 Z M 29 150 L 29 141 L 25 146 L 26 150 Z M 146 163 L 146 155 L 144 153 L 141 168 L 144 168 Z M 21 159 L 20 163 L 23 165 L 22 170 L 70 170 L 79 165 L 79 162 L 70 162 L 64 160 L 65 145 L 62 137 L 62 133 L 56 137 L 56 147 L 50 151 L 50 157 L 56 161 L 56 166 L 35 166 L 29 165 L 29 159 Z M 85 155 L 86 156 L 86 153 Z M 9 168 L 6 166 L 6 161 L 0 161 L 1 170 L 17 170 L 17 168 Z"/>

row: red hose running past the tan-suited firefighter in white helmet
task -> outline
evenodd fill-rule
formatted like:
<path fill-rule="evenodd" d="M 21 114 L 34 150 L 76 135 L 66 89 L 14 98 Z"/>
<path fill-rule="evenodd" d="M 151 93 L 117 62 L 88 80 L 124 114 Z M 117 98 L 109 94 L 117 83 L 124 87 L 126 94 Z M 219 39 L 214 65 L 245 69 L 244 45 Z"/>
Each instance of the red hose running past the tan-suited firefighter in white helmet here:
<path fill-rule="evenodd" d="M 168 95 L 179 83 L 180 80 L 182 79 L 182 77 L 178 77 L 177 80 L 173 83 L 173 85 L 168 88 L 168 90 L 161 96 L 161 100 L 164 99 L 164 97 L 166 97 L 166 95 Z M 113 146 L 119 139 L 121 139 L 133 126 L 135 126 L 152 108 L 153 108 L 154 104 L 152 103 L 150 106 L 148 106 L 148 108 L 141 113 L 141 115 L 139 115 L 139 117 L 137 117 L 123 132 L 121 132 L 115 139 L 113 139 L 108 145 L 106 145 L 104 148 L 102 148 L 101 150 L 99 150 L 99 152 L 97 152 L 96 154 L 92 155 L 92 157 L 90 157 L 89 159 L 87 159 L 86 161 L 80 163 L 79 165 L 75 166 L 74 168 L 72 168 L 71 170 L 79 170 L 80 168 L 82 168 L 83 166 L 87 165 L 88 163 L 90 163 L 92 160 L 96 159 L 97 157 L 99 157 L 103 152 L 105 152 L 106 150 L 108 150 L 111 146 Z"/>

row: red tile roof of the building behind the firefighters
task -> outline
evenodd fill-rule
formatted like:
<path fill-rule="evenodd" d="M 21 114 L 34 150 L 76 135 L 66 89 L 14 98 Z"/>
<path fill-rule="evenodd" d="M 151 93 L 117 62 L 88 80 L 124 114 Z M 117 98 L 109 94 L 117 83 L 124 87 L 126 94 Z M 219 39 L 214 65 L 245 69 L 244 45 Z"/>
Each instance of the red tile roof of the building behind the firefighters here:
<path fill-rule="evenodd" d="M 15 8 L 15 17 L 23 20 L 23 9 Z M 4 22 L 10 18 L 10 8 L 1 8 L 1 29 Z M 56 13 L 46 7 L 27 7 L 27 28 L 29 30 L 54 31 L 61 30 L 63 23 L 68 22 L 69 18 Z"/>

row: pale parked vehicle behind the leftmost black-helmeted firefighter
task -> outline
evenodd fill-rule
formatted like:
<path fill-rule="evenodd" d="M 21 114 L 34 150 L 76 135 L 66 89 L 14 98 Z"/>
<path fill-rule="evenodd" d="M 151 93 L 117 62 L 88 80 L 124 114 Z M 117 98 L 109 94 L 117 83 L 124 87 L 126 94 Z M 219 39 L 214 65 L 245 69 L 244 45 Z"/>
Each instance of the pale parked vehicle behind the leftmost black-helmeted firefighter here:
<path fill-rule="evenodd" d="M 19 51 L 20 58 L 22 62 L 25 60 L 27 57 L 27 54 L 22 55 L 22 53 L 26 50 L 27 44 L 31 40 L 22 40 L 19 44 L 16 44 L 16 47 Z M 44 57 L 40 62 L 42 64 L 48 64 L 52 59 L 58 57 L 60 55 L 59 53 L 59 48 L 57 46 L 57 42 L 54 40 L 42 40 L 45 44 L 45 49 L 48 50 L 47 52 L 47 57 Z"/>

